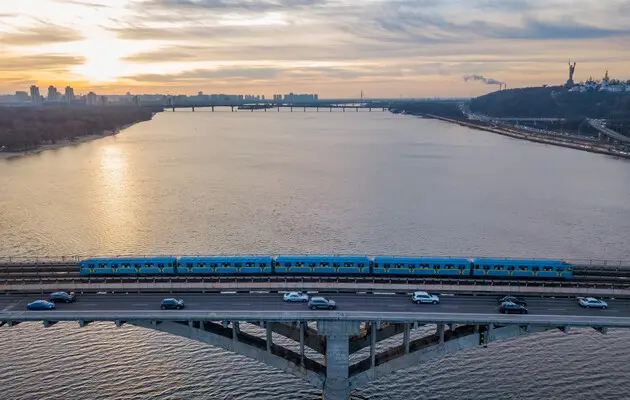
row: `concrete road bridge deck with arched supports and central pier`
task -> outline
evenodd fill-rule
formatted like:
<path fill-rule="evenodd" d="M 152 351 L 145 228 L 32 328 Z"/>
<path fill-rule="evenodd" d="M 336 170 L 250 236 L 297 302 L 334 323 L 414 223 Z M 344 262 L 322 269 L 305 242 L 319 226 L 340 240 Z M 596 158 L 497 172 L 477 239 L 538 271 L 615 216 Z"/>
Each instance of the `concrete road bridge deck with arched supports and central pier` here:
<path fill-rule="evenodd" d="M 393 371 L 494 341 L 556 329 L 567 333 L 570 327 L 601 333 L 630 328 L 627 300 L 610 300 L 608 309 L 594 310 L 580 308 L 575 299 L 532 298 L 530 314 L 502 315 L 496 297 L 487 296 L 443 296 L 434 306 L 413 304 L 408 296 L 338 294 L 331 297 L 335 311 L 287 304 L 277 294 L 173 296 L 187 307 L 160 311 L 159 294 L 106 294 L 82 295 L 55 311 L 25 311 L 34 296 L 7 295 L 0 298 L 0 325 L 78 321 L 84 327 L 112 321 L 154 329 L 300 377 L 320 388 L 326 400 L 349 399 L 353 389 Z"/>

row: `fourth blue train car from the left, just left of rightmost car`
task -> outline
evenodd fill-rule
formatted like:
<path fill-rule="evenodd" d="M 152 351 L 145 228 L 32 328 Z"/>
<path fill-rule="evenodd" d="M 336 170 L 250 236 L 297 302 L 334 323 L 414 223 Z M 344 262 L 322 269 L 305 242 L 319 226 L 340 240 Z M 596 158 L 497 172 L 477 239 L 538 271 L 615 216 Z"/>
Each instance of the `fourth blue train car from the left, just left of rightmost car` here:
<path fill-rule="evenodd" d="M 374 275 L 451 275 L 470 273 L 470 260 L 466 258 L 436 257 L 374 257 Z"/>

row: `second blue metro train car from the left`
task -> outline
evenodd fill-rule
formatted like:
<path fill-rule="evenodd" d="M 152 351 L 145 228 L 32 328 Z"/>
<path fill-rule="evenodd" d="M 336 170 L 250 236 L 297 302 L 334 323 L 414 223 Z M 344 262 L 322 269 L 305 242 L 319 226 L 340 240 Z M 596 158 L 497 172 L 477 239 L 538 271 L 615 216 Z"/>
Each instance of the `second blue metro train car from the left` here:
<path fill-rule="evenodd" d="M 180 257 L 177 274 L 231 275 L 270 274 L 271 256 Z"/>

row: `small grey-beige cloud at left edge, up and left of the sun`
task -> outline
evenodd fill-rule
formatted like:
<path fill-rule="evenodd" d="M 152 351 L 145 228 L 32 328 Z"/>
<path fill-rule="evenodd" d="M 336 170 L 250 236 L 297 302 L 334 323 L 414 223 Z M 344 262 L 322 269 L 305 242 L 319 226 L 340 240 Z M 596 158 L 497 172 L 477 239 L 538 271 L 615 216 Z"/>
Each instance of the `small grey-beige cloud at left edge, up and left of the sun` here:
<path fill-rule="evenodd" d="M 0 42 L 10 46 L 37 46 L 51 43 L 75 42 L 83 39 L 79 31 L 47 24 L 0 34 Z"/>

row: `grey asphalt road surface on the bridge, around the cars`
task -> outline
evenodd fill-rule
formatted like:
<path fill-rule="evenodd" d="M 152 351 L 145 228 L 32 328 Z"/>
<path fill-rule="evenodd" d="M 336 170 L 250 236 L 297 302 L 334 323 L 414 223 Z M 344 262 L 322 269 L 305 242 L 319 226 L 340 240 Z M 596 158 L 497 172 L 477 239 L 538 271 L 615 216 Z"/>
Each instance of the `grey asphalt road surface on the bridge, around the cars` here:
<path fill-rule="evenodd" d="M 164 294 L 86 294 L 76 303 L 57 304 L 55 311 L 159 311 Z M 169 296 L 170 297 L 170 296 Z M 186 303 L 188 311 L 310 311 L 305 303 L 285 303 L 281 294 L 173 294 Z M 495 296 L 442 296 L 438 305 L 414 304 L 410 296 L 335 294 L 326 296 L 337 302 L 337 312 L 413 312 L 443 314 L 498 313 Z M 0 312 L 25 311 L 26 305 L 37 296 L 9 295 L 0 297 Z M 607 300 L 609 308 L 584 309 L 576 299 L 527 299 L 530 315 L 571 315 L 600 317 L 630 317 L 630 300 Z M 178 312 L 177 310 L 169 312 Z M 320 313 L 330 313 L 320 310 Z"/>

